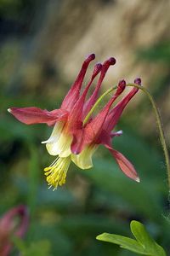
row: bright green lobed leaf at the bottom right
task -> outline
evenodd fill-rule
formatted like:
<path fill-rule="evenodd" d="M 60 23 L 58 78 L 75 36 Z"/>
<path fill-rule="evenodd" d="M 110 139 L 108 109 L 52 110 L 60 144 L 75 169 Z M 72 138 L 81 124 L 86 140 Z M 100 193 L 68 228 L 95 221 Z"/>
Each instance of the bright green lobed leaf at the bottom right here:
<path fill-rule="evenodd" d="M 165 251 L 154 241 L 145 230 L 144 225 L 133 220 L 130 224 L 131 231 L 136 240 L 126 236 L 101 234 L 96 238 L 100 241 L 109 241 L 133 253 L 149 256 L 166 256 Z"/>

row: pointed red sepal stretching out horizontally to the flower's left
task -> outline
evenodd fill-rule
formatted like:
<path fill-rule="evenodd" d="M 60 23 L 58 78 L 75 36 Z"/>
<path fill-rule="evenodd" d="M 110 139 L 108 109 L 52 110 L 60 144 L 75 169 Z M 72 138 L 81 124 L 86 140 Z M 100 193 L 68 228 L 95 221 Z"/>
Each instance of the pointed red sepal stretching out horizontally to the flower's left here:
<path fill-rule="evenodd" d="M 9 113 L 12 113 L 14 117 L 20 122 L 26 125 L 46 123 L 48 125 L 54 125 L 57 119 L 64 119 L 67 116 L 67 112 L 63 109 L 55 109 L 53 111 L 42 110 L 41 108 L 9 108 Z"/>

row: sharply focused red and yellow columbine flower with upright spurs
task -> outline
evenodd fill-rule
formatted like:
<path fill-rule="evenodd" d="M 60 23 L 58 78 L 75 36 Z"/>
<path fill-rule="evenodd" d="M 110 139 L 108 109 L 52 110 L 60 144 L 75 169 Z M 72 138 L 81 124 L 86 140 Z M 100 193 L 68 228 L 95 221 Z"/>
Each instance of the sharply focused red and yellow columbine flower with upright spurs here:
<path fill-rule="evenodd" d="M 26 125 L 37 123 L 54 125 L 51 136 L 47 141 L 42 142 L 46 144 L 49 154 L 57 156 L 54 162 L 44 169 L 48 185 L 53 186 L 54 189 L 58 185 L 65 183 L 66 173 L 71 161 L 81 169 L 91 168 L 93 166 L 92 156 L 99 147 L 99 144 L 103 144 L 105 148 L 109 149 L 116 159 L 118 166 L 120 166 L 122 172 L 127 177 L 131 177 L 139 182 L 139 177 L 129 160 L 120 152 L 111 148 L 111 139 L 122 134 L 122 131 L 113 132 L 112 130 L 116 126 L 123 109 L 138 89 L 133 88 L 121 102 L 118 102 L 114 108 L 111 108 L 113 102 L 122 94 L 126 87 L 126 82 L 124 80 L 120 81 L 116 93 L 105 107 L 95 117 L 89 114 L 99 98 L 99 89 L 105 78 L 105 73 L 111 65 L 116 63 L 116 60 L 112 57 L 103 64 L 97 63 L 94 66 L 94 72 L 90 81 L 81 94 L 84 76 L 89 63 L 94 58 L 94 54 L 88 55 L 87 59 L 83 62 L 75 83 L 72 84 L 71 90 L 65 96 L 59 109 L 50 112 L 35 107 L 8 109 L 16 119 L 19 119 Z M 93 94 L 87 100 L 88 89 L 98 74 L 99 80 L 97 85 Z M 140 79 L 136 79 L 135 83 L 141 84 Z"/>

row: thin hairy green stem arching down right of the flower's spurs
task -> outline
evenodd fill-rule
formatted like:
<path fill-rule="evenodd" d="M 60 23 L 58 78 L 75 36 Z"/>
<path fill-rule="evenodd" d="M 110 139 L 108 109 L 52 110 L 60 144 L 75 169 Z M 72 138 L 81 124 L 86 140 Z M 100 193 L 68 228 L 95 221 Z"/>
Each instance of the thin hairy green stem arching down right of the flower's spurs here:
<path fill-rule="evenodd" d="M 143 90 L 144 93 L 150 99 L 152 108 L 153 108 L 153 110 L 156 114 L 156 122 L 157 122 L 158 130 L 159 130 L 159 133 L 160 133 L 161 146 L 163 148 L 163 152 L 164 152 L 164 155 L 165 155 L 166 166 L 167 166 L 168 188 L 170 189 L 170 161 L 169 161 L 169 155 L 168 155 L 168 151 L 167 151 L 167 144 L 166 144 L 166 140 L 165 140 L 165 135 L 164 135 L 163 127 L 162 127 L 162 124 L 161 124 L 161 116 L 160 116 L 160 113 L 158 111 L 158 108 L 156 107 L 156 102 L 154 101 L 153 97 L 150 95 L 150 92 L 146 88 L 144 88 L 144 87 L 142 87 L 138 84 L 127 84 L 127 86 L 133 86 L 133 87 L 139 88 L 140 90 Z"/>

